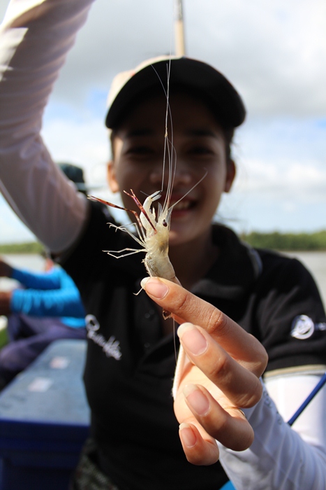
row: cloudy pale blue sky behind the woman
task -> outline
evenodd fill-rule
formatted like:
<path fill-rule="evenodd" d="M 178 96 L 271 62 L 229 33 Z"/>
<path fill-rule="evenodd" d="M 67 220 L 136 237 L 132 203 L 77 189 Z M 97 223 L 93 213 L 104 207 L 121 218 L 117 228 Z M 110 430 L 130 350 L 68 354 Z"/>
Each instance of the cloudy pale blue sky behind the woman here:
<path fill-rule="evenodd" d="M 0 18 L 8 0 L 0 0 Z M 244 99 L 237 179 L 218 218 L 237 232 L 326 229 L 326 3 L 184 0 L 186 54 L 215 66 Z M 105 190 L 105 104 L 114 75 L 174 52 L 172 0 L 96 0 L 47 106 L 54 161 Z M 0 243 L 33 238 L 0 195 Z"/>

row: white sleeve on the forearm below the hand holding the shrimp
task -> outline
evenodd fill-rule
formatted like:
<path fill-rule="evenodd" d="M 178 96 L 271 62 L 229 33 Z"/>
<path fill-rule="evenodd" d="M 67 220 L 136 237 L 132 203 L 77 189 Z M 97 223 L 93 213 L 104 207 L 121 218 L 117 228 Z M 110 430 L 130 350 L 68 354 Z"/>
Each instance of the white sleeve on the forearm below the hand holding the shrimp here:
<path fill-rule="evenodd" d="M 264 388 L 260 402 L 244 409 L 255 432 L 251 447 L 235 452 L 218 443 L 221 464 L 237 490 L 326 488 L 326 386 L 292 428 L 286 423 L 319 379 L 316 374 L 267 379 L 269 393 Z"/>

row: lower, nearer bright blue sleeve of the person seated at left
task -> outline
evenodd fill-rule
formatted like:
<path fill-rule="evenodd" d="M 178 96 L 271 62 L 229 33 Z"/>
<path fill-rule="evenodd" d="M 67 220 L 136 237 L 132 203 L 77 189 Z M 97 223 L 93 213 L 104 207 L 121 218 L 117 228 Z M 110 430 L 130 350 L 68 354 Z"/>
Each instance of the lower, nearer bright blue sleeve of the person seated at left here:
<path fill-rule="evenodd" d="M 50 290 L 16 289 L 10 301 L 14 313 L 32 316 L 73 316 L 84 318 L 85 312 L 77 286 L 70 276 L 57 267 L 59 288 Z"/>

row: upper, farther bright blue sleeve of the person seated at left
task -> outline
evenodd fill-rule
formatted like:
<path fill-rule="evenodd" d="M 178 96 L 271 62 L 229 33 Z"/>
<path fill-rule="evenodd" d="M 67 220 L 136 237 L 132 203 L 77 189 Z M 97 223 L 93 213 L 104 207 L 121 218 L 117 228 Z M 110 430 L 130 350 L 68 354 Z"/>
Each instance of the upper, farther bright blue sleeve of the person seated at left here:
<path fill-rule="evenodd" d="M 12 279 L 20 282 L 30 289 L 59 289 L 61 288 L 60 269 L 54 267 L 50 272 L 29 272 L 24 269 L 13 268 Z"/>

